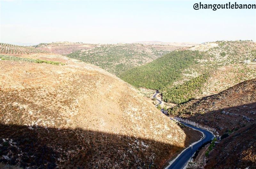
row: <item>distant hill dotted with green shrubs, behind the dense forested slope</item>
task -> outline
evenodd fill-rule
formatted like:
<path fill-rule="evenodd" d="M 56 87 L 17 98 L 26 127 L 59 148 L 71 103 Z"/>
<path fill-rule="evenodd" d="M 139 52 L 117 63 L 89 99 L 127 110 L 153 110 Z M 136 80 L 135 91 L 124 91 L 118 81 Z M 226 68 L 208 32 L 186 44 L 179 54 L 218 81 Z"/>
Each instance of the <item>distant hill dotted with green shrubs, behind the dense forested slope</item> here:
<path fill-rule="evenodd" d="M 143 65 L 183 46 L 112 44 L 100 45 L 89 50 L 79 50 L 68 55 L 69 58 L 97 65 L 102 69 L 119 75 L 132 67 Z"/>

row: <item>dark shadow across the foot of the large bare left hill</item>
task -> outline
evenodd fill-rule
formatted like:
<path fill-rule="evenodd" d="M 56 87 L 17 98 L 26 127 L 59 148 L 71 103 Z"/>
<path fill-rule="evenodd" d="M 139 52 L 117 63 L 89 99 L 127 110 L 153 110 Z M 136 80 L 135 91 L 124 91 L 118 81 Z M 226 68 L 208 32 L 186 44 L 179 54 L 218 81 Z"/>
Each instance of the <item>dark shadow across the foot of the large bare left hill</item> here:
<path fill-rule="evenodd" d="M 148 168 L 154 157 L 158 167 L 179 150 L 153 140 L 79 128 L 0 124 L 0 163 L 23 168 Z"/>

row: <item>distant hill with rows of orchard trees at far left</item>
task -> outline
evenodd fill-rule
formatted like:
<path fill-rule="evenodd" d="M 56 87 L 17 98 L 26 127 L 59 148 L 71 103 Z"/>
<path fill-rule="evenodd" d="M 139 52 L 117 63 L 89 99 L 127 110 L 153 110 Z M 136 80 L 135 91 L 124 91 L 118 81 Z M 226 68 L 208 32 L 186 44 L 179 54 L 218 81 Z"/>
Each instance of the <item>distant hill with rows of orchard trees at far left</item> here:
<path fill-rule="evenodd" d="M 0 54 L 31 54 L 31 53 L 48 53 L 45 50 L 36 49 L 33 46 L 19 46 L 8 43 L 0 43 Z"/>

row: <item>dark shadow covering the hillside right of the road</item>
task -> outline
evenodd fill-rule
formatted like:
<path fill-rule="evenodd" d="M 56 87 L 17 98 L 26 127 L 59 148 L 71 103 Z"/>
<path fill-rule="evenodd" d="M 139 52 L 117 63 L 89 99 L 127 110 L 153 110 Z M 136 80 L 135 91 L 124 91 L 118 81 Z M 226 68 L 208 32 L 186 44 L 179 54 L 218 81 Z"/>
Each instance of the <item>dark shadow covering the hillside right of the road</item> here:
<path fill-rule="evenodd" d="M 195 110 L 208 110 L 207 106 L 212 105 L 209 106 L 205 103 Z M 256 169 L 256 102 L 206 111 L 203 114 L 196 113 L 186 119 L 203 126 L 216 128 L 220 135 L 230 134 L 212 150 L 205 168 L 249 167 L 250 169 Z"/>

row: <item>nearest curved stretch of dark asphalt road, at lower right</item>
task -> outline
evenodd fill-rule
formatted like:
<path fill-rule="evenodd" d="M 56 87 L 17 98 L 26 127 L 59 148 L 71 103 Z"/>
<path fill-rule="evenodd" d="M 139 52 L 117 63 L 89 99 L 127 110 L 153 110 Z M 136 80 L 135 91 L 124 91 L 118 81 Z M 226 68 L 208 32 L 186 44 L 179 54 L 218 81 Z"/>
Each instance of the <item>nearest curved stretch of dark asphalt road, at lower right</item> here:
<path fill-rule="evenodd" d="M 196 144 L 194 144 L 193 146 L 188 147 L 187 149 L 185 149 L 178 158 L 176 158 L 176 160 L 172 163 L 172 165 L 170 165 L 169 167 L 166 167 L 166 169 L 182 169 L 188 162 L 188 160 L 190 159 L 190 157 L 192 156 L 192 154 L 194 154 L 196 152 L 196 150 L 204 143 L 204 142 L 208 142 L 210 140 L 213 139 L 213 134 L 210 133 L 209 131 L 206 131 L 204 129 L 186 124 L 181 122 L 182 124 L 194 128 L 196 130 L 199 130 L 201 132 L 204 133 L 204 139 L 201 140 L 200 142 L 197 142 Z"/>

